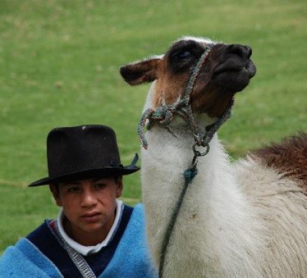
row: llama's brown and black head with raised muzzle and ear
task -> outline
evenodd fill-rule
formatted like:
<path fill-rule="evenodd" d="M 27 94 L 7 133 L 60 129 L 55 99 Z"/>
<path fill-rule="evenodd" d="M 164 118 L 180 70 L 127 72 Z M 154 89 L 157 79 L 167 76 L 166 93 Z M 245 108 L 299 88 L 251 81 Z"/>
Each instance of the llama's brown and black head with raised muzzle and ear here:
<path fill-rule="evenodd" d="M 245 45 L 225 45 L 204 38 L 184 37 L 161 56 L 121 67 L 130 85 L 156 80 L 151 92 L 151 108 L 172 104 L 184 95 L 193 68 L 207 47 L 211 47 L 190 94 L 193 112 L 219 117 L 234 94 L 243 90 L 256 72 L 250 60 L 252 50 Z"/>

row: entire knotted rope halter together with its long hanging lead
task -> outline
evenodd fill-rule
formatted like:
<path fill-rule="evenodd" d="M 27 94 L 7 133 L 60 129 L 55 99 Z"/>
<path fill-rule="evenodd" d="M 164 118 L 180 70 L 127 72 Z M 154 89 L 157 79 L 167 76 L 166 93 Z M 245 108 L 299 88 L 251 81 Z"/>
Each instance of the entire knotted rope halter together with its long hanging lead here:
<path fill-rule="evenodd" d="M 174 207 L 174 211 L 172 212 L 172 217 L 170 218 L 170 222 L 167 225 L 167 230 L 165 232 L 165 237 L 162 244 L 161 254 L 160 254 L 160 265 L 159 265 L 159 277 L 163 277 L 163 268 L 165 263 L 165 255 L 167 251 L 167 246 L 170 242 L 170 237 L 172 235 L 172 231 L 174 230 L 174 226 L 176 224 L 177 216 L 179 214 L 179 210 L 184 201 L 184 196 L 188 189 L 188 185 L 193 181 L 194 177 L 197 175 L 197 157 L 204 156 L 209 152 L 209 142 L 211 141 L 214 133 L 218 130 L 218 128 L 227 121 L 227 119 L 231 116 L 231 109 L 233 105 L 233 101 L 229 103 L 229 107 L 223 115 L 221 115 L 218 120 L 212 124 L 211 126 L 207 126 L 206 131 L 204 132 L 204 136 L 202 136 L 202 132 L 198 128 L 198 125 L 194 119 L 192 107 L 190 104 L 190 94 L 193 92 L 193 87 L 195 85 L 195 81 L 197 80 L 198 75 L 200 74 L 202 65 L 204 61 L 206 61 L 207 55 L 211 50 L 211 45 L 207 45 L 202 56 L 197 61 L 197 64 L 193 68 L 192 74 L 190 75 L 190 79 L 188 80 L 188 84 L 186 86 L 186 90 L 184 96 L 170 105 L 160 105 L 155 110 L 147 109 L 142 114 L 140 118 L 139 125 L 137 126 L 137 132 L 140 136 L 140 141 L 142 142 L 142 146 L 144 149 L 147 149 L 148 143 L 144 136 L 144 126 L 147 124 L 147 129 L 151 129 L 151 126 L 155 122 L 161 124 L 163 126 L 167 126 L 172 122 L 174 115 L 178 115 L 183 118 L 184 121 L 188 124 L 190 130 L 193 132 L 195 143 L 193 145 L 193 161 L 191 163 L 190 168 L 184 171 L 184 188 L 181 190 L 179 200 L 177 201 L 176 207 Z M 148 123 L 147 123 L 148 120 Z M 204 152 L 200 152 L 196 149 L 196 147 L 205 147 Z"/>

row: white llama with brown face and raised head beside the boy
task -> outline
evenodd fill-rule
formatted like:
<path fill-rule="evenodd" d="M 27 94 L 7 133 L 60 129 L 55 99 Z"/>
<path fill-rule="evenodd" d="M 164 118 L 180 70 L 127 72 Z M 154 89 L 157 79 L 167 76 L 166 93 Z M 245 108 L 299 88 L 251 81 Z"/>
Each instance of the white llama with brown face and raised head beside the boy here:
<path fill-rule="evenodd" d="M 123 66 L 121 75 L 130 85 L 152 82 L 144 111 L 170 107 L 184 97 L 190 73 L 208 47 L 190 93 L 203 134 L 255 75 L 250 47 L 184 37 L 161 56 Z M 149 122 L 144 138 L 140 132 L 147 240 L 157 268 L 195 144 L 184 117 L 174 113 L 169 122 Z M 209 147 L 207 155 L 198 157 L 198 173 L 179 210 L 163 277 L 307 277 L 306 134 L 235 163 L 216 133 Z"/>

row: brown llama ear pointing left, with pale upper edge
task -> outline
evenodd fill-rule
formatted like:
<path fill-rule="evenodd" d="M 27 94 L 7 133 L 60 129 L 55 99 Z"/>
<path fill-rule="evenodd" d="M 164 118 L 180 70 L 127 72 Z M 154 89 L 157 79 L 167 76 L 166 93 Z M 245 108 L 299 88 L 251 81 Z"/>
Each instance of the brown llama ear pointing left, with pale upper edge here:
<path fill-rule="evenodd" d="M 156 80 L 156 71 L 161 58 L 152 58 L 122 66 L 119 70 L 123 79 L 130 85 Z"/>

